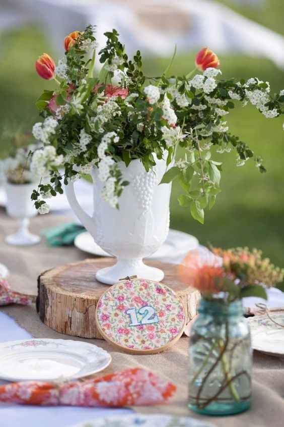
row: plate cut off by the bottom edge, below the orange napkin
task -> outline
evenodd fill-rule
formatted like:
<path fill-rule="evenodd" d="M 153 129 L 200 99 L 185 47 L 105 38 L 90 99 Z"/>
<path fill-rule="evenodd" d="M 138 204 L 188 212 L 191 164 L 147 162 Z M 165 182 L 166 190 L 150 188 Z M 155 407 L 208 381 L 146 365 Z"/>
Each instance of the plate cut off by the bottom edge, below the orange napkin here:
<path fill-rule="evenodd" d="M 117 415 L 80 422 L 72 427 L 216 427 L 207 421 L 172 415 Z"/>

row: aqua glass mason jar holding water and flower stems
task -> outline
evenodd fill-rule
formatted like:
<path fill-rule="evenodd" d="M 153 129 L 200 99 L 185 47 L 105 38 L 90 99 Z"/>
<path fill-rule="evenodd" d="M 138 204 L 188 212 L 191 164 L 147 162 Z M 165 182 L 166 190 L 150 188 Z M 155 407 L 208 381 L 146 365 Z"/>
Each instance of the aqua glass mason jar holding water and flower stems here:
<path fill-rule="evenodd" d="M 189 408 L 201 414 L 243 412 L 251 402 L 252 349 L 241 300 L 201 299 L 189 342 Z"/>

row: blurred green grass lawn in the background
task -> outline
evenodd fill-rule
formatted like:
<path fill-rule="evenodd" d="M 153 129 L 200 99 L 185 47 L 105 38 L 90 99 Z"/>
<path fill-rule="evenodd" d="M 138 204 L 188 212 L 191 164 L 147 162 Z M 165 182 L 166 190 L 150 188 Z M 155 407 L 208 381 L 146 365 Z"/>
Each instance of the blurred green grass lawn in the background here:
<path fill-rule="evenodd" d="M 221 3 L 234 6 L 230 0 Z M 263 8 L 240 8 L 256 21 L 284 33 L 284 2 L 267 1 Z M 38 121 L 34 106 L 43 88 L 52 82 L 41 80 L 34 71 L 34 61 L 43 51 L 54 55 L 48 40 L 38 28 L 26 27 L 3 34 L 0 39 L 0 155 L 9 152 L 7 131 L 22 127 L 31 129 Z M 261 40 L 259 41 L 261 42 Z M 209 41 L 208 41 L 209 43 Z M 284 72 L 271 62 L 259 58 L 230 55 L 220 56 L 224 77 L 249 78 L 257 76 L 271 83 L 271 90 L 284 88 Z M 172 72 L 186 74 L 193 68 L 194 54 L 178 56 Z M 167 59 L 145 60 L 147 75 L 159 75 L 168 64 Z M 195 235 L 201 243 L 231 247 L 248 245 L 264 251 L 265 255 L 284 267 L 284 118 L 265 119 L 251 106 L 235 109 L 229 118 L 232 132 L 249 143 L 264 159 L 266 174 L 260 174 L 253 161 L 236 168 L 235 152 L 214 155 L 222 158 L 222 193 L 214 208 L 206 212 L 205 224 L 195 222 L 186 208 L 177 202 L 178 187 L 174 184 L 171 199 L 171 227 Z M 43 220 L 44 221 L 44 220 Z M 44 224 L 43 224 L 44 227 Z"/>

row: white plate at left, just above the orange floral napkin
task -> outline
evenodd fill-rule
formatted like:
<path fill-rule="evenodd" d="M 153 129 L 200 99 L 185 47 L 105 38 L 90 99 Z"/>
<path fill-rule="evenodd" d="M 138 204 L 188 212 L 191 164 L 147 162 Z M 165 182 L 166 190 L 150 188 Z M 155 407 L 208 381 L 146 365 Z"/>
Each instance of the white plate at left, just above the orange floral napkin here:
<path fill-rule="evenodd" d="M 111 355 L 83 341 L 30 339 L 0 344 L 0 378 L 6 381 L 75 380 L 105 369 Z"/>

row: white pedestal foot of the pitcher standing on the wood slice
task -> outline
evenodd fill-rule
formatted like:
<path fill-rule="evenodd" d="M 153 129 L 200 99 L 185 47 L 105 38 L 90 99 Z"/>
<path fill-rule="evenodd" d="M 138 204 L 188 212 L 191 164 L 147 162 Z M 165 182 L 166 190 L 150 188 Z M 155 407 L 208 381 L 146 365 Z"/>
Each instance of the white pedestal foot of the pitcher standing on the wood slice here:
<path fill-rule="evenodd" d="M 106 285 L 115 285 L 127 276 L 137 276 L 139 279 L 160 282 L 164 279 L 165 274 L 160 269 L 144 264 L 141 259 L 119 259 L 115 265 L 99 270 L 96 279 Z"/>

